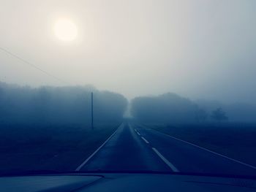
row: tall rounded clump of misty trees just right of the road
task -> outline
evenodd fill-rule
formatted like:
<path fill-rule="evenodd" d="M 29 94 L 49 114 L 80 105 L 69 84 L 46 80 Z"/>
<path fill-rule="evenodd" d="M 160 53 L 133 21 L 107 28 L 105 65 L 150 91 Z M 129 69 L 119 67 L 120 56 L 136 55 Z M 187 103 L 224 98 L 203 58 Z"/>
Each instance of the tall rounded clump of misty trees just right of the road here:
<path fill-rule="evenodd" d="M 151 123 L 192 123 L 205 117 L 202 109 L 175 93 L 137 97 L 132 100 L 132 116 Z"/>

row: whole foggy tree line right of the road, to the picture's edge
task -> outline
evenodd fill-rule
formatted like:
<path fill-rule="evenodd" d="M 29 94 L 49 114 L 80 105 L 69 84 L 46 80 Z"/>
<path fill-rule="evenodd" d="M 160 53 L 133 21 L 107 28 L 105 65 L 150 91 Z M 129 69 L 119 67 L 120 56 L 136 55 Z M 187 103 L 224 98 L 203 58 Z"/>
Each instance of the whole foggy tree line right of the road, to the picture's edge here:
<path fill-rule="evenodd" d="M 131 115 L 143 123 L 211 124 L 255 123 L 256 105 L 224 104 L 219 101 L 192 101 L 176 93 L 140 96 L 132 99 Z"/>

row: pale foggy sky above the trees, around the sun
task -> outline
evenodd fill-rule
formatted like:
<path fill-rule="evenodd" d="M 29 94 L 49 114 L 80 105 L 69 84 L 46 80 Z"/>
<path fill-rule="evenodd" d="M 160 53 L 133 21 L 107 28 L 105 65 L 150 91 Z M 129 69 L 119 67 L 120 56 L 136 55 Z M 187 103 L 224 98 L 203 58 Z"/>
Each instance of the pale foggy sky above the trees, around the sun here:
<path fill-rule="evenodd" d="M 255 0 L 0 1 L 0 47 L 68 82 L 132 99 L 256 103 Z M 78 38 L 60 42 L 68 18 Z M 0 51 L 0 81 L 66 85 Z"/>

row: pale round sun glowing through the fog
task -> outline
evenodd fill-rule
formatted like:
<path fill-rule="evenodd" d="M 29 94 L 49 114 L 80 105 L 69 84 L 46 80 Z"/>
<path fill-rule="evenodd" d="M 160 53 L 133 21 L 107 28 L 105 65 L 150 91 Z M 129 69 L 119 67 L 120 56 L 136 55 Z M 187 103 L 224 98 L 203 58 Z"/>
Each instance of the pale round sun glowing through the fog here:
<path fill-rule="evenodd" d="M 63 18 L 56 21 L 54 33 L 61 41 L 70 42 L 78 36 L 78 28 L 72 20 Z"/>

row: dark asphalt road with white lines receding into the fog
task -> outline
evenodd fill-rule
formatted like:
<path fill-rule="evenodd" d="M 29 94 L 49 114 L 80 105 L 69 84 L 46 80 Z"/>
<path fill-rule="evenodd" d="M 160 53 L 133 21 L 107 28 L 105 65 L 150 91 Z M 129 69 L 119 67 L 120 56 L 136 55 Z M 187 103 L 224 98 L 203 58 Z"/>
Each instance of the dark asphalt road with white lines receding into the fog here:
<path fill-rule="evenodd" d="M 123 123 L 77 171 L 256 175 L 256 167 L 136 124 Z"/>

